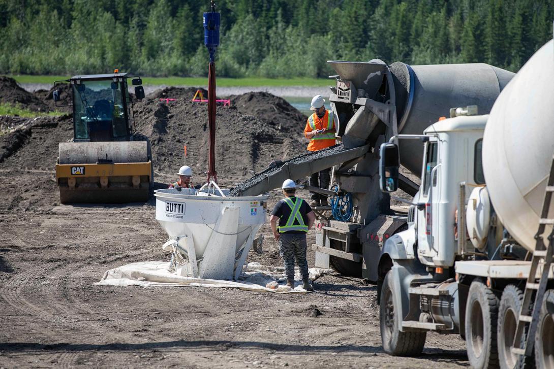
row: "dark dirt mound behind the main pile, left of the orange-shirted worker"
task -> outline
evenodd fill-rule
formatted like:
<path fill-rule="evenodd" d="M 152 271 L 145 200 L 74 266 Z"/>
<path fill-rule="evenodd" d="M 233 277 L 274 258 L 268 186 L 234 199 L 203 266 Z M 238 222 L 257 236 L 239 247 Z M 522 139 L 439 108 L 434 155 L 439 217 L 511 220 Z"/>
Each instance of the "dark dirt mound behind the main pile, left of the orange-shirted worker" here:
<path fill-rule="evenodd" d="M 229 98 L 239 113 L 257 117 L 283 132 L 302 134 L 304 131 L 307 117 L 282 97 L 268 92 L 247 92 Z"/>

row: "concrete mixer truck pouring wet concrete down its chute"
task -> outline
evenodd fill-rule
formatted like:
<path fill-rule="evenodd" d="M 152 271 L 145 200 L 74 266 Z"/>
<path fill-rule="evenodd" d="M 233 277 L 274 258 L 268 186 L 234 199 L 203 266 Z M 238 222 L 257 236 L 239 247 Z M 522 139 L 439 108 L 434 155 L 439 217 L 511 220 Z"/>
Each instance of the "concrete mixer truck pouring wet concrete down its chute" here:
<path fill-rule="evenodd" d="M 345 206 L 351 213 L 331 217 L 331 207 L 315 208 L 321 215 L 312 245 L 316 266 L 332 266 L 342 274 L 378 283 L 390 267 L 379 264 L 384 241 L 407 227 L 407 207 L 403 212 L 391 210 L 390 196 L 379 191 L 379 145 L 398 133 L 422 134 L 429 124 L 448 115 L 451 106 L 479 105 L 482 113 L 488 113 L 514 74 L 487 64 L 328 63 L 337 72 L 331 76 L 335 86 L 330 102 L 342 144 L 275 162 L 237 185 L 232 193 L 263 194 L 279 188 L 285 179 L 304 179 L 335 166 L 338 188 L 312 190 L 329 196 L 345 195 L 350 199 Z M 419 177 L 422 143 L 412 140 L 400 145 L 401 163 Z M 399 187 L 409 195 L 419 190 L 407 176 L 399 175 L 398 179 Z"/>

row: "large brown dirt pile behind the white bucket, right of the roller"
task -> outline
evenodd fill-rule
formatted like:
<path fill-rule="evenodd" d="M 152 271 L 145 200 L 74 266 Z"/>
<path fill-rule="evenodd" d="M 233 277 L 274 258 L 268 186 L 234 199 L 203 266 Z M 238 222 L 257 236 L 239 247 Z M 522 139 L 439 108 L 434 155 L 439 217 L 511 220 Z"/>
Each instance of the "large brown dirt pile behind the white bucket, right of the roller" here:
<path fill-rule="evenodd" d="M 208 113 L 206 103 L 191 101 L 196 90 L 170 87 L 156 91 L 135 105 L 135 122 L 137 131 L 150 138 L 157 171 L 173 173 L 183 165 L 186 145 L 186 163 L 199 181 L 208 165 Z M 177 100 L 158 100 L 165 97 Z M 305 150 L 301 139 L 301 133 L 268 126 L 234 106 L 218 105 L 218 178 L 242 180 L 249 170 L 259 171 L 273 160 L 293 158 Z"/>

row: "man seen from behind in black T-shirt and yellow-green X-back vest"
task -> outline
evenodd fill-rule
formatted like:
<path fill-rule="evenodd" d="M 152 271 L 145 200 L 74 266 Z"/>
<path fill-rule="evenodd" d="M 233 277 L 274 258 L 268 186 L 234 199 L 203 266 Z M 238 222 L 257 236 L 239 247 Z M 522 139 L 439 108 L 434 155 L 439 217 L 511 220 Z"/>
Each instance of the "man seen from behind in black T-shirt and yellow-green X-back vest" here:
<path fill-rule="evenodd" d="M 286 271 L 286 285 L 294 288 L 294 259 L 300 268 L 302 288 L 314 290 L 310 284 L 308 262 L 306 259 L 306 233 L 314 225 L 315 214 L 305 200 L 297 198 L 296 183 L 287 179 L 283 182 L 283 195 L 273 211 L 269 224 L 279 248 Z M 278 225 L 279 223 L 279 225 Z"/>

